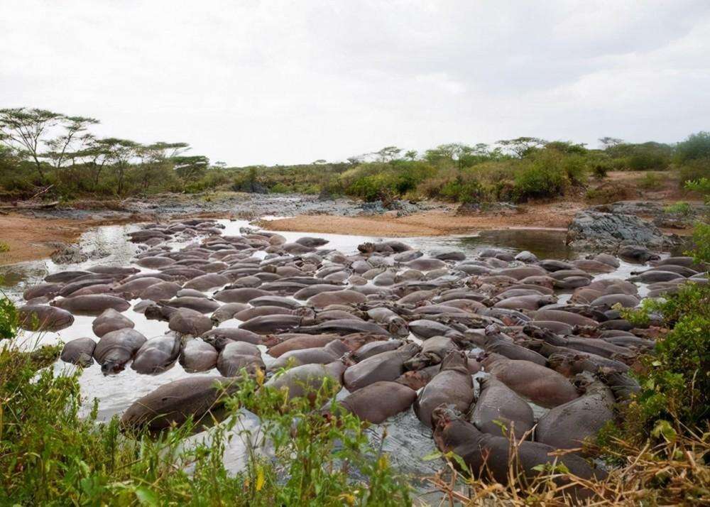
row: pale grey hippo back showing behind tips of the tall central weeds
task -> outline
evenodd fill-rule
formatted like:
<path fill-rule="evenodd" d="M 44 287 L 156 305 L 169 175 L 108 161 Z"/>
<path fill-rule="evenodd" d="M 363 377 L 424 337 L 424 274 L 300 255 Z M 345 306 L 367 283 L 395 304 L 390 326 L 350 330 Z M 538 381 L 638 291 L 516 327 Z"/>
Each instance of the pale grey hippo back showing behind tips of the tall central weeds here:
<path fill-rule="evenodd" d="M 329 378 L 336 386 L 342 385 L 345 364 L 333 361 L 329 364 L 302 364 L 282 374 L 271 377 L 265 388 L 286 391 L 287 399 L 306 397 L 315 402 L 323 386 L 323 381 Z"/>

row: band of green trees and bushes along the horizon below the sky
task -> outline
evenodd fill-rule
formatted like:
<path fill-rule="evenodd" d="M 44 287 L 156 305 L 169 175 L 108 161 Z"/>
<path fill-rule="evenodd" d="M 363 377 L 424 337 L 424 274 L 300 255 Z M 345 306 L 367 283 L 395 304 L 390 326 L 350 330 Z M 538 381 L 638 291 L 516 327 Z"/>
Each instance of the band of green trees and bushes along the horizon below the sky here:
<path fill-rule="evenodd" d="M 99 138 L 99 121 L 43 109 L 0 109 L 0 197 L 48 194 L 70 199 L 160 192 L 305 192 L 364 200 L 430 197 L 457 202 L 525 201 L 561 195 L 610 170 L 669 170 L 682 180 L 710 173 L 710 133 L 674 145 L 604 137 L 602 148 L 519 137 L 449 143 L 424 153 L 386 146 L 329 163 L 237 168 L 192 155 L 183 142 L 148 145 Z"/>

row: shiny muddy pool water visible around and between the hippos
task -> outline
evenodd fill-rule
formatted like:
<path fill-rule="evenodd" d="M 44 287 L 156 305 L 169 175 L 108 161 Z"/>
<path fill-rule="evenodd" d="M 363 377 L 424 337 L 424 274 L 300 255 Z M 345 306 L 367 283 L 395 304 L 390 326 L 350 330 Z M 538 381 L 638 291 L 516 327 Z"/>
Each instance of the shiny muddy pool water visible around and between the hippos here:
<path fill-rule="evenodd" d="M 223 233 L 226 235 L 237 235 L 241 227 L 249 225 L 248 222 L 242 220 L 222 220 L 220 222 L 225 226 Z M 136 227 L 131 225 L 107 226 L 87 231 L 82 235 L 82 249 L 85 251 L 99 250 L 109 252 L 109 256 L 104 258 L 62 266 L 47 260 L 0 267 L 0 277 L 4 278 L 1 288 L 11 299 L 19 302 L 21 301 L 23 290 L 28 286 L 39 283 L 49 273 L 85 269 L 99 264 L 127 266 L 138 251 L 138 246 L 126 241 L 126 233 L 135 229 Z M 306 235 L 298 232 L 281 232 L 280 234 L 283 234 L 288 241 L 294 241 Z M 373 236 L 348 236 L 342 234 L 317 234 L 317 236 L 324 237 L 330 241 L 327 244 L 327 248 L 337 249 L 346 254 L 355 253 L 357 245 L 364 241 L 381 239 Z M 559 230 L 509 229 L 505 231 L 483 231 L 481 234 L 473 236 L 421 237 L 408 238 L 406 241 L 413 247 L 422 249 L 425 252 L 442 247 L 450 247 L 461 249 L 466 254 L 473 255 L 481 249 L 496 247 L 509 249 L 510 251 L 529 250 L 540 258 L 568 259 L 578 256 L 578 254 L 570 251 L 564 245 L 564 231 Z M 170 246 L 173 249 L 180 249 L 185 246 L 185 243 L 173 241 Z M 264 252 L 258 252 L 258 254 L 263 256 Z M 601 275 L 597 278 L 627 278 L 630 276 L 631 271 L 639 267 L 638 265 L 621 263 L 621 267 L 616 272 Z M 143 269 L 142 271 L 147 272 L 150 270 Z M 642 295 L 645 293 L 643 287 L 640 288 L 640 292 Z M 559 300 L 564 302 L 571 293 L 572 291 L 566 294 L 559 294 Z M 133 303 L 136 302 L 138 301 L 133 301 Z M 134 312 L 132 309 L 127 310 L 124 315 L 133 320 L 136 324 L 135 329 L 148 338 L 158 336 L 167 331 L 167 323 L 146 320 L 142 314 Z M 68 329 L 43 334 L 26 332 L 26 334 L 21 336 L 21 342 L 23 347 L 33 347 L 36 344 L 55 343 L 60 340 L 67 342 L 78 337 L 94 337 L 92 332 L 93 320 L 94 317 L 76 316 L 75 324 Z M 236 326 L 239 325 L 239 322 L 231 320 L 224 322 L 222 325 Z M 265 347 L 262 347 L 262 349 L 263 351 L 266 350 Z M 268 361 L 273 360 L 269 356 L 265 356 L 264 359 L 267 364 Z M 57 361 L 54 365 L 57 373 L 70 372 L 73 368 L 75 367 L 62 361 Z M 208 373 L 218 374 L 216 369 Z M 182 369 L 180 364 L 175 364 L 172 369 L 157 376 L 139 375 L 130 368 L 116 376 L 103 376 L 99 367 L 94 364 L 84 369 L 80 377 L 80 386 L 85 402 L 84 410 L 89 410 L 94 399 L 97 399 L 99 420 L 108 420 L 126 410 L 137 398 L 146 395 L 158 386 L 185 376 L 189 376 L 189 374 Z M 537 407 L 534 407 L 534 409 L 537 415 L 542 413 L 542 409 Z M 256 416 L 249 413 L 239 415 L 239 423 L 234 430 L 235 437 L 231 440 L 231 444 L 224 455 L 226 467 L 231 471 L 241 469 L 246 459 L 246 442 L 237 433 L 245 429 L 256 430 L 257 428 Z M 412 410 L 408 410 L 391 419 L 386 425 L 373 426 L 368 432 L 370 432 L 373 443 L 376 445 L 379 445 L 383 435 L 386 435 L 383 449 L 391 452 L 393 463 L 401 471 L 421 477 L 433 474 L 439 469 L 438 461 L 422 461 L 422 457 L 434 450 L 434 444 L 430 430 L 420 424 Z M 209 433 L 196 435 L 195 440 L 202 440 L 204 437 L 209 437 Z"/>

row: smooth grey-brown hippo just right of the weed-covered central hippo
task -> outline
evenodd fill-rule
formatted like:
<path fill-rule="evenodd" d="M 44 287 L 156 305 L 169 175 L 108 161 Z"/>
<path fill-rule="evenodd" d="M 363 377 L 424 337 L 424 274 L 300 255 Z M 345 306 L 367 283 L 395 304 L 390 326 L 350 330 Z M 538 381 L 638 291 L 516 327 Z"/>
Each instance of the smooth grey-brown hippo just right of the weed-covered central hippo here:
<path fill-rule="evenodd" d="M 404 373 L 405 361 L 418 351 L 416 344 L 408 343 L 396 350 L 381 352 L 349 366 L 344 374 L 345 387 L 352 392 L 373 382 L 393 381 Z"/>

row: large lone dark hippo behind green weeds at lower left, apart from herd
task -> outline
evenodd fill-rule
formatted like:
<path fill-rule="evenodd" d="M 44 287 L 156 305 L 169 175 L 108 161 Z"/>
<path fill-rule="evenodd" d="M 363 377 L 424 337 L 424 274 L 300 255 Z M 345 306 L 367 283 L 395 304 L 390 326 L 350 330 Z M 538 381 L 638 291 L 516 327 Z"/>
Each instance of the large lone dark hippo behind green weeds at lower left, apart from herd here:
<path fill-rule="evenodd" d="M 190 418 L 197 423 L 208 413 L 218 415 L 224 400 L 238 388 L 239 383 L 234 378 L 180 378 L 134 401 L 121 416 L 121 426 L 129 431 L 146 428 L 160 432 L 173 425 L 182 425 Z"/>

